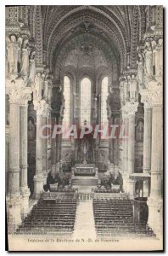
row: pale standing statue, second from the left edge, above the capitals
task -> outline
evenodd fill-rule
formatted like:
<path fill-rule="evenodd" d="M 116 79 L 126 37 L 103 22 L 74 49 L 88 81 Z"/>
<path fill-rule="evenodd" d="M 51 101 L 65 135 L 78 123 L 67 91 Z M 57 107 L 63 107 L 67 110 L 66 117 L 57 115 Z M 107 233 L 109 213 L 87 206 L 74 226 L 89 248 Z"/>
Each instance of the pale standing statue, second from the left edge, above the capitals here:
<path fill-rule="evenodd" d="M 20 76 L 27 81 L 29 75 L 29 47 L 28 47 L 28 39 L 24 39 L 22 43 L 21 49 L 21 70 Z"/>

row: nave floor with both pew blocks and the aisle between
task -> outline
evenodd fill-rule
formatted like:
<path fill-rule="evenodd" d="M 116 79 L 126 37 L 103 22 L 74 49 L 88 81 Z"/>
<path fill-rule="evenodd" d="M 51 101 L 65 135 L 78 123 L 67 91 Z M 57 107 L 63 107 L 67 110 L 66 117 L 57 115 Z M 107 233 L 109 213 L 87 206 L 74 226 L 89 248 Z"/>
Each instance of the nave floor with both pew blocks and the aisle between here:
<path fill-rule="evenodd" d="M 90 198 L 86 194 L 80 199 L 76 192 L 61 195 L 44 192 L 15 235 L 73 237 L 86 241 L 101 237 L 154 239 L 156 236 L 147 220 L 135 220 L 132 201 L 115 195 L 97 198 L 92 193 Z"/>

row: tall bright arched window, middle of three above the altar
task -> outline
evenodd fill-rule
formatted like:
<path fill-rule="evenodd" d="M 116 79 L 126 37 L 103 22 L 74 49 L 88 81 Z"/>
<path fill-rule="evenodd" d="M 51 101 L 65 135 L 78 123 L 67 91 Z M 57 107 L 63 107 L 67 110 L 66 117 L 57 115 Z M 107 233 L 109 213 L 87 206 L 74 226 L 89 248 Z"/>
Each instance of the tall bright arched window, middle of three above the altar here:
<path fill-rule="evenodd" d="M 91 81 L 87 78 L 81 80 L 81 126 L 91 121 Z"/>

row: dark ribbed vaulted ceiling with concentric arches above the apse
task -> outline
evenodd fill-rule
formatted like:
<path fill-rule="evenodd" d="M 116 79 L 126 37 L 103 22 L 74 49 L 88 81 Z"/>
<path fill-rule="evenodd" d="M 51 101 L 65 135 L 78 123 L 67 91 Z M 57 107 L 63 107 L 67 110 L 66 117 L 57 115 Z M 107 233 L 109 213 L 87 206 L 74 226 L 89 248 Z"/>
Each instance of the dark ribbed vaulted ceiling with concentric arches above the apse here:
<path fill-rule="evenodd" d="M 137 43 L 145 30 L 144 6 L 41 6 L 41 12 L 42 48 L 53 72 L 63 65 L 65 55 L 70 60 L 70 51 L 78 51 L 80 58 L 82 47 L 98 50 L 106 65 L 114 61 L 120 73 L 128 53 L 135 66 Z"/>

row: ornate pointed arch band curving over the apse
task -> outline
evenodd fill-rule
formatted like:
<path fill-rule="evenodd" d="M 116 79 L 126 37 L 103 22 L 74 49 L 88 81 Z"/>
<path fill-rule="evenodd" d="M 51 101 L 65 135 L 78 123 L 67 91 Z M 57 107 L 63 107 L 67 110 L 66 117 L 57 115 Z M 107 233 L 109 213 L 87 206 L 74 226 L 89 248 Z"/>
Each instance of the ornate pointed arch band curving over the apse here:
<path fill-rule="evenodd" d="M 108 15 L 104 16 L 104 12 L 101 12 L 98 9 L 88 9 L 87 11 L 86 9 L 78 9 L 78 11 L 76 10 L 76 12 L 74 12 L 73 16 L 70 15 L 70 13 L 64 15 L 64 19 L 55 26 L 53 25 L 50 31 L 50 38 L 48 39 L 48 59 L 50 61 L 50 67 L 52 67 L 51 58 L 53 56 L 53 51 L 58 48 L 57 45 L 59 46 L 59 42 L 61 41 L 62 43 L 63 38 L 69 32 L 72 36 L 72 34 L 76 32 L 74 27 L 79 26 L 81 22 L 87 20 L 86 23 L 90 22 L 94 24 L 95 32 L 101 35 L 104 40 L 109 40 L 110 47 L 111 45 L 113 45 L 113 48 L 115 47 L 115 53 L 120 52 L 122 70 L 126 62 L 126 38 L 124 39 L 123 29 L 121 29 L 121 26 L 116 22 L 116 17 L 114 18 L 114 21 L 112 19 L 109 20 L 109 16 L 107 16 Z M 104 22 L 102 20 L 104 20 Z M 121 30 L 122 32 L 120 32 Z M 100 31 L 104 33 L 100 33 Z M 126 32 L 124 33 L 126 35 Z M 113 42 L 113 44 L 111 44 L 111 42 Z"/>

